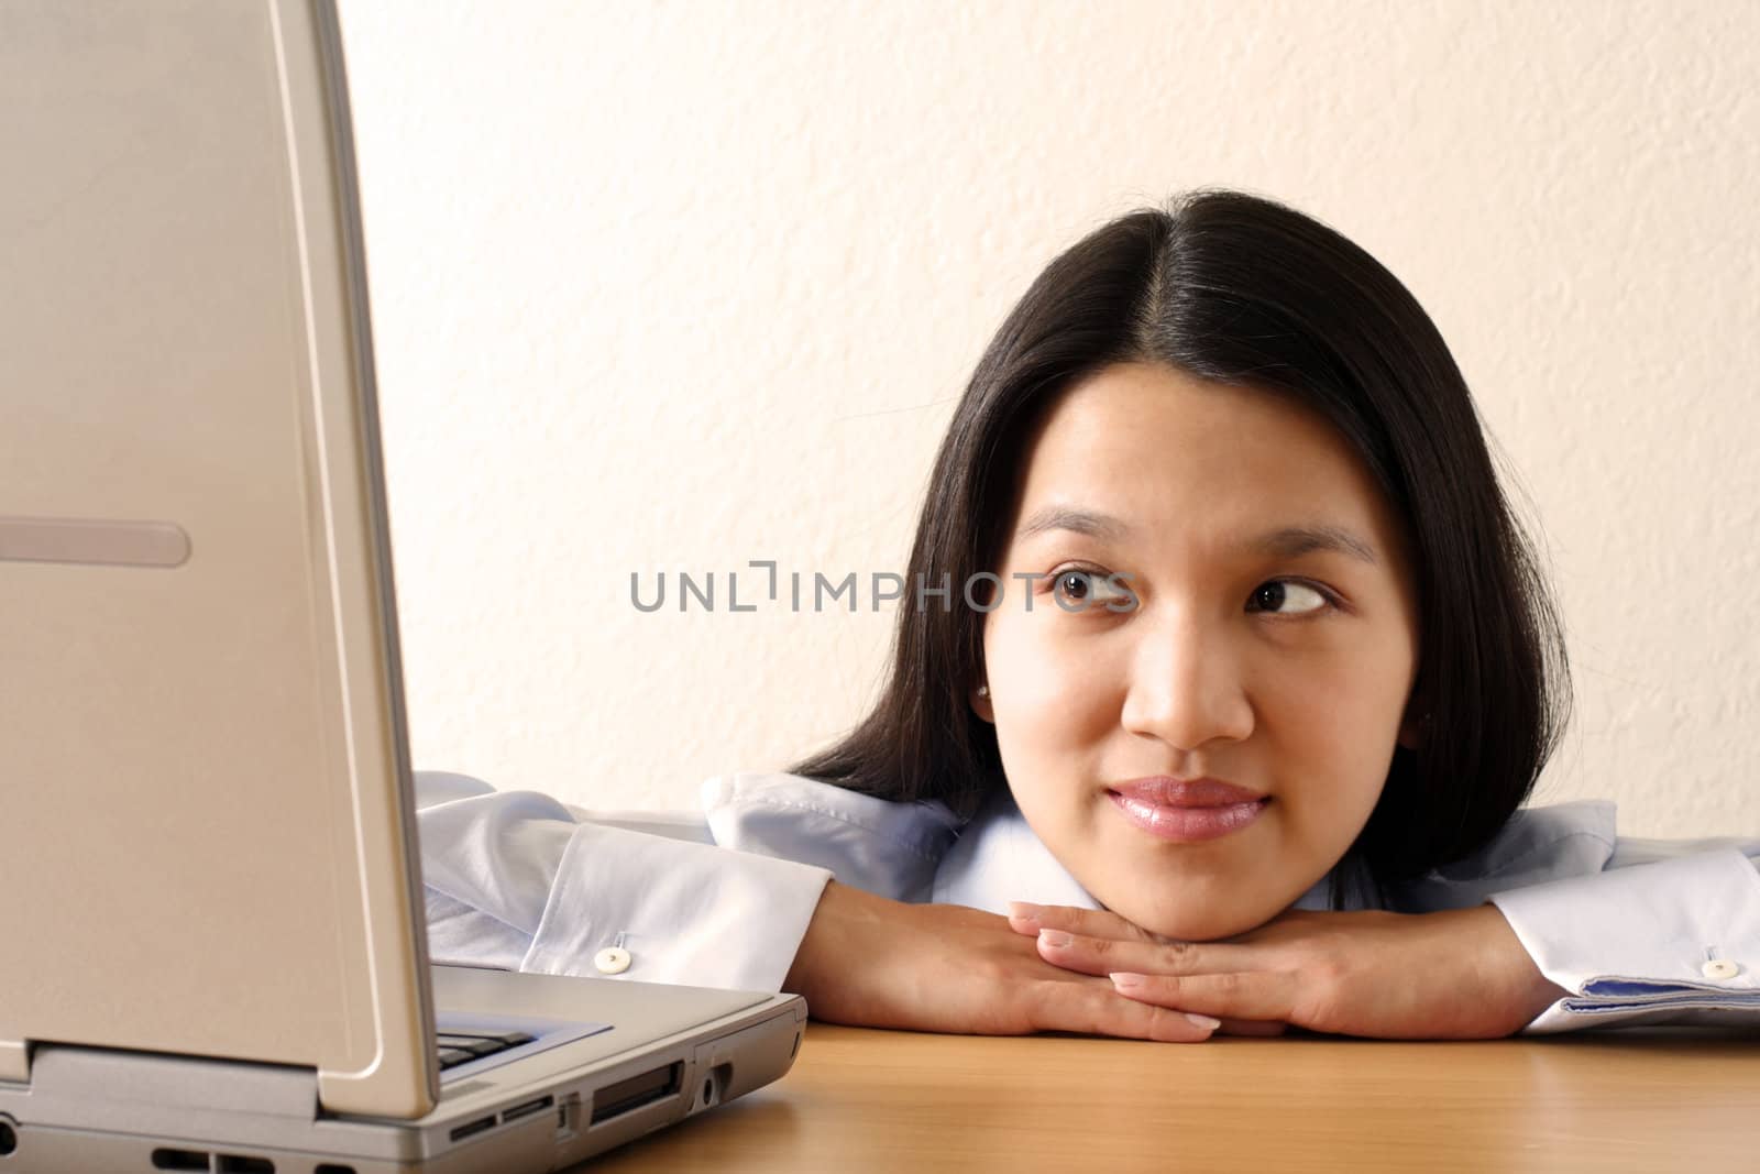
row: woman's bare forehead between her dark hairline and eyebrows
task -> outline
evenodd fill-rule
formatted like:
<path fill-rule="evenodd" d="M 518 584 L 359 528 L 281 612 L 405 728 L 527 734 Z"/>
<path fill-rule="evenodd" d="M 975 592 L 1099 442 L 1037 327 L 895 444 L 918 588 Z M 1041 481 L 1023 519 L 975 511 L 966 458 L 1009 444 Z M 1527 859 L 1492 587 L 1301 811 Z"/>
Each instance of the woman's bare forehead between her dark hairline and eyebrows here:
<path fill-rule="evenodd" d="M 1010 533 L 1047 507 L 1199 542 L 1331 525 L 1396 561 L 1401 546 L 1369 470 L 1324 417 L 1288 396 L 1162 364 L 1105 368 L 1052 405 L 1028 444 Z"/>

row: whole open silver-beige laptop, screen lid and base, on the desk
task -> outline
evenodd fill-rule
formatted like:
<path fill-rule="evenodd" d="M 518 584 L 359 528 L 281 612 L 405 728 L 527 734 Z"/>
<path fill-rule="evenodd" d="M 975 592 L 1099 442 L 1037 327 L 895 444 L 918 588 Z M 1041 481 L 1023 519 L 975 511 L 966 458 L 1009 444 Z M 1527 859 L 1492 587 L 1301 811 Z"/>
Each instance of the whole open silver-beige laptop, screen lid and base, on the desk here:
<path fill-rule="evenodd" d="M 327 0 L 0 0 L 0 1174 L 554 1170 L 797 996 L 431 966 Z"/>

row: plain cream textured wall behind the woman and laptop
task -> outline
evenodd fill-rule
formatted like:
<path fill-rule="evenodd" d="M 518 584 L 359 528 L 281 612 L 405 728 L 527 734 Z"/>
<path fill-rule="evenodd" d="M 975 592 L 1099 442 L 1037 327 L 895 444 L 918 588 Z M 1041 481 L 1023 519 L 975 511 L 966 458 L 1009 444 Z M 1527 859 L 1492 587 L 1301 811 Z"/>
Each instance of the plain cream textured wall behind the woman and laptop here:
<path fill-rule="evenodd" d="M 727 570 L 899 569 L 1026 282 L 1220 183 L 1394 269 L 1519 472 L 1579 690 L 1538 801 L 1760 833 L 1760 5 L 343 0 L 343 28 L 417 766 L 679 808 L 831 737 L 889 607 L 730 614 Z M 718 609 L 639 613 L 662 569 L 715 570 Z"/>

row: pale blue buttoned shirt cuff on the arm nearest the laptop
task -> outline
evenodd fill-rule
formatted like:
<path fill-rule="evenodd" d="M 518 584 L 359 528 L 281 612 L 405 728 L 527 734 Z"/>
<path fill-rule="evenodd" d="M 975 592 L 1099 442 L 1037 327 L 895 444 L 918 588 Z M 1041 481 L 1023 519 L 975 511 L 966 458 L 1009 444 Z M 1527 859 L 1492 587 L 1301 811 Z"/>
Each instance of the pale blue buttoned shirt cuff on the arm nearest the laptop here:
<path fill-rule="evenodd" d="M 827 880 L 811 864 L 583 824 L 519 968 L 780 991 Z"/>

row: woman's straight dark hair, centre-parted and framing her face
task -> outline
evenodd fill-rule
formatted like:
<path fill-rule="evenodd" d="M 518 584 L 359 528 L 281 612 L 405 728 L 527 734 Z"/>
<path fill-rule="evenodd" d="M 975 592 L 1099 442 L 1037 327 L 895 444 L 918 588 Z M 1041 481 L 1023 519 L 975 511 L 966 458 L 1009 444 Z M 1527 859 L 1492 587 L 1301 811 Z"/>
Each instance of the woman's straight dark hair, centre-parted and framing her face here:
<path fill-rule="evenodd" d="M 1334 869 L 1371 887 L 1489 843 L 1528 799 L 1570 715 L 1558 611 L 1498 484 L 1471 393 L 1417 299 L 1369 253 L 1269 199 L 1206 188 L 1063 252 L 984 350 L 942 440 L 910 551 L 891 676 L 868 716 L 790 767 L 970 817 L 1005 787 L 970 708 L 982 613 L 915 605 L 915 584 L 994 572 L 1033 424 L 1114 363 L 1165 363 L 1288 394 L 1350 442 L 1406 528 L 1419 588 L 1413 699 L 1431 718 Z M 920 576 L 920 577 L 919 577 Z M 1380 898 L 1376 898 L 1380 899 Z"/>

